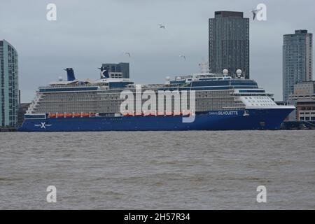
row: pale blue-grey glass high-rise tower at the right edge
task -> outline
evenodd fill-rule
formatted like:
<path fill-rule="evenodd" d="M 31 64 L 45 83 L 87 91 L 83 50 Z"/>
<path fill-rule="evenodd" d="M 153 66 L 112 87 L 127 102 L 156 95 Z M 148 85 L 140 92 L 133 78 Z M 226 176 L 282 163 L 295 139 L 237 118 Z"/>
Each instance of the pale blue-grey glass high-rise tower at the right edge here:
<path fill-rule="evenodd" d="M 312 80 L 312 38 L 306 29 L 283 35 L 283 101 L 288 101 L 296 83 Z"/>

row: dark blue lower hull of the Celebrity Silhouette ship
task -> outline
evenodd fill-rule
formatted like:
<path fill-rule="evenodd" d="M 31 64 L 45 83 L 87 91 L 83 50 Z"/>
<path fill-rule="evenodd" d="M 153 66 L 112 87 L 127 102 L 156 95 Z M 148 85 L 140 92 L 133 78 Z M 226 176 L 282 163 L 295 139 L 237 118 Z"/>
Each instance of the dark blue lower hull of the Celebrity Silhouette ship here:
<path fill-rule="evenodd" d="M 125 116 L 91 118 L 26 118 L 21 132 L 278 130 L 293 111 L 290 108 L 208 111 L 197 113 L 193 123 L 182 116 Z"/>

